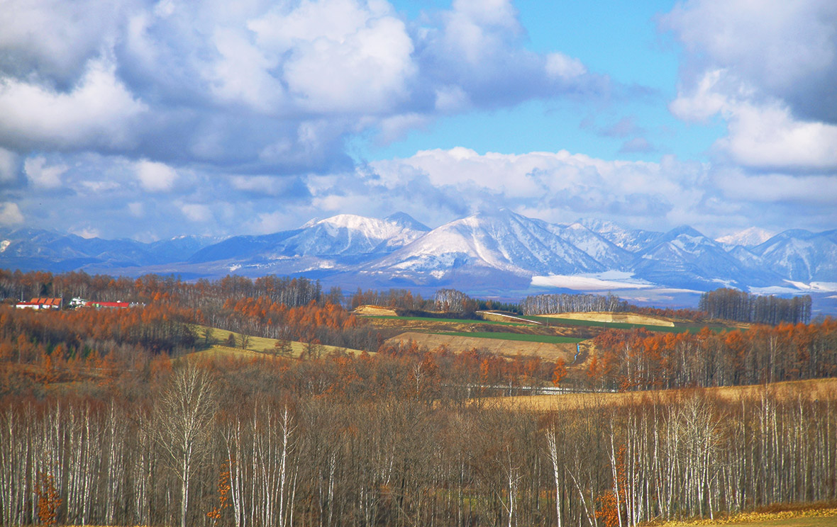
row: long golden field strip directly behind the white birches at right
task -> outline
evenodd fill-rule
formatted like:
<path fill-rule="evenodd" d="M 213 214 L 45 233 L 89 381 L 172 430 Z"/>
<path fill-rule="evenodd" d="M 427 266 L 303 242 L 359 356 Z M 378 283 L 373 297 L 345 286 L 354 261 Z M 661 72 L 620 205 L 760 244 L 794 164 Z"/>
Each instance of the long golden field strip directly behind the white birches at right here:
<path fill-rule="evenodd" d="M 768 393 L 775 394 L 779 398 L 796 399 L 801 397 L 809 400 L 825 399 L 834 397 L 834 393 L 837 393 L 837 378 L 703 389 L 707 395 L 727 401 L 737 401 L 742 398 L 760 398 L 765 390 Z M 598 406 L 623 406 L 629 403 L 639 403 L 644 399 L 662 400 L 664 402 L 675 401 L 688 393 L 691 393 L 691 390 L 649 390 L 645 392 L 624 393 L 554 393 L 548 395 L 487 398 L 485 401 L 496 403 L 506 408 L 550 412 Z M 837 523 L 834 525 L 837 525 Z"/>

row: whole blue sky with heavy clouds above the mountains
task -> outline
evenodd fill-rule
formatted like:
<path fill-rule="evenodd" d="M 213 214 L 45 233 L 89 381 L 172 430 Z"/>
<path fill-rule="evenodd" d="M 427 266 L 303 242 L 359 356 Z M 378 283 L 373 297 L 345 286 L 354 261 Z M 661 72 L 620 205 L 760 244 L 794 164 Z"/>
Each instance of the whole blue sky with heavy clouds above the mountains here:
<path fill-rule="evenodd" d="M 0 226 L 837 228 L 833 0 L 0 0 Z"/>

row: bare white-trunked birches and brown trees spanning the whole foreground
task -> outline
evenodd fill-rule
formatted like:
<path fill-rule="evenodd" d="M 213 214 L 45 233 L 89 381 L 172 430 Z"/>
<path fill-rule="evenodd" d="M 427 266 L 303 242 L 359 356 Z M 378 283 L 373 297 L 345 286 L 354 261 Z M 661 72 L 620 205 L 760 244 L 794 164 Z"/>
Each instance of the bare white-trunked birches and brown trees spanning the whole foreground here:
<path fill-rule="evenodd" d="M 242 398 L 218 375 L 181 366 L 156 397 L 7 404 L 0 523 L 628 527 L 837 497 L 833 393 L 531 413 Z"/>

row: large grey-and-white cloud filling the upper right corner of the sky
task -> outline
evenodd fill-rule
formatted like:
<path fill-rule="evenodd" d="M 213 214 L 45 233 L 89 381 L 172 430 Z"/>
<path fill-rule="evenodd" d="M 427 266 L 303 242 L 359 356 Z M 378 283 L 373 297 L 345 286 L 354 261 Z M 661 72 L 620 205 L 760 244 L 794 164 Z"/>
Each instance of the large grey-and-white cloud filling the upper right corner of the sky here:
<path fill-rule="evenodd" d="M 837 169 L 837 3 L 690 0 L 661 24 L 686 48 L 670 110 L 721 115 L 717 151 L 759 170 Z"/>

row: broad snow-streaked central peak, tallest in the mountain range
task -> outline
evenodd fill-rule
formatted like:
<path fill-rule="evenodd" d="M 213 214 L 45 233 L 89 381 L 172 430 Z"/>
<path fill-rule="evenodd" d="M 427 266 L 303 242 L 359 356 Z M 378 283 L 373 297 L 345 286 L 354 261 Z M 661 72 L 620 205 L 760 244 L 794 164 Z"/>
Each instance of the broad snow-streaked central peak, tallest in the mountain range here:
<path fill-rule="evenodd" d="M 597 272 L 604 268 L 549 225 L 511 210 L 471 215 L 430 231 L 374 264 L 378 270 L 434 273 L 491 268 L 517 275 Z"/>

